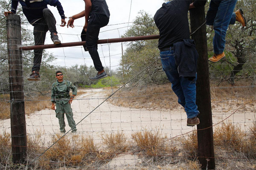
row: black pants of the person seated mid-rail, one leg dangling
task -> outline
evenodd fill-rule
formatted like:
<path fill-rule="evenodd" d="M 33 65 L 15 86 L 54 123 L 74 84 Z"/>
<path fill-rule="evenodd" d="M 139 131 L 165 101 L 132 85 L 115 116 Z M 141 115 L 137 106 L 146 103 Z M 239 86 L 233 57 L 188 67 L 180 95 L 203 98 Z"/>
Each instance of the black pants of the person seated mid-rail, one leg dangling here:
<path fill-rule="evenodd" d="M 108 25 L 109 18 L 102 14 L 91 14 L 87 26 L 86 32 L 86 47 L 90 56 L 93 59 L 94 67 L 97 71 L 102 71 L 104 68 L 102 62 L 99 59 L 98 44 L 99 30 L 100 28 Z"/>

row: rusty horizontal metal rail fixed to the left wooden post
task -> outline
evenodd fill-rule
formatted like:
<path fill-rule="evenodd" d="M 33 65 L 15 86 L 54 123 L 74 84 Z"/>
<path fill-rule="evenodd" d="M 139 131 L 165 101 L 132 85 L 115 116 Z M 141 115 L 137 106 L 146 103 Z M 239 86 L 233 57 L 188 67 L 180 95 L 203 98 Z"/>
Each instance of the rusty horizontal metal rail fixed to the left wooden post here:
<path fill-rule="evenodd" d="M 139 36 L 139 37 L 124 37 L 124 38 L 113 38 L 113 39 L 105 39 L 105 40 L 98 40 L 98 44 L 106 44 L 106 43 L 113 43 L 113 42 L 128 42 L 128 41 L 140 41 L 140 40 L 154 40 L 159 39 L 159 35 L 147 35 L 147 36 Z M 48 44 L 48 45 L 33 45 L 33 46 L 21 46 L 19 47 L 20 50 L 38 50 L 38 49 L 47 49 L 47 48 L 61 48 L 61 47 L 73 47 L 73 46 L 80 46 L 85 45 L 85 41 L 80 42 L 67 42 L 61 43 L 58 45 Z"/>

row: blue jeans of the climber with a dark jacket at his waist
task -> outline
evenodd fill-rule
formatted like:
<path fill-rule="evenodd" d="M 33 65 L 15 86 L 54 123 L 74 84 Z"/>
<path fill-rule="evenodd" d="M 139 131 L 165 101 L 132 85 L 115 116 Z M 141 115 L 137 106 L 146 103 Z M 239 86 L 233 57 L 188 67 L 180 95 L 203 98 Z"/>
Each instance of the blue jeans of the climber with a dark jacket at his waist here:
<path fill-rule="evenodd" d="M 196 100 L 196 78 L 192 81 L 180 77 L 178 67 L 175 64 L 174 50 L 160 52 L 163 71 L 172 83 L 172 90 L 178 97 L 178 103 L 185 108 L 187 118 L 193 118 L 199 114 Z"/>

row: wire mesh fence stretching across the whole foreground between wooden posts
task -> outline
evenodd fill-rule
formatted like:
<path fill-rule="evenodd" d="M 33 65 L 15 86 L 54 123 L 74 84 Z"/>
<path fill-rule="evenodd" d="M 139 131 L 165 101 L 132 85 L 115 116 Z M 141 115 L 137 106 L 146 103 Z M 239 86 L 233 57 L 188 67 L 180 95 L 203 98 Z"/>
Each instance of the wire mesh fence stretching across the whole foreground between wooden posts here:
<path fill-rule="evenodd" d="M 59 35 L 63 39 L 76 36 L 80 40 L 79 34 Z M 122 58 L 121 43 L 98 45 L 98 51 L 102 51 L 100 58 L 110 77 L 97 82 L 88 80 L 96 71 L 87 65 L 90 56 L 82 46 L 62 48 L 62 52 L 51 54 L 45 51 L 40 82 L 26 80 L 33 65 L 33 53 L 22 51 L 23 68 L 17 71 L 24 78 L 21 92 L 25 96 L 27 156 L 26 163 L 20 166 L 88 170 L 200 168 L 196 127 L 186 126 L 186 113 L 161 71 L 158 55 L 148 56 L 151 60 L 133 60 L 142 64 L 131 74 L 124 68 L 125 59 L 127 63 L 129 59 Z M 1 53 L 4 55 L 0 64 L 0 167 L 11 169 L 15 167 L 10 163 L 12 75 L 8 74 L 7 53 Z M 255 59 L 245 55 L 243 69 L 232 77 L 236 60 L 230 57 L 231 54 L 218 65 L 209 64 L 216 167 L 254 169 Z M 64 60 L 64 65 L 49 64 L 54 58 Z M 79 61 L 79 65 L 70 65 L 71 60 Z M 111 65 L 113 61 L 117 64 Z M 151 68 L 159 69 L 148 74 Z M 71 104 L 76 133 L 71 133 L 68 125 L 67 133 L 60 133 L 58 118 L 51 109 L 50 90 L 57 70 L 79 89 Z M 67 117 L 64 119 L 67 124 Z"/>

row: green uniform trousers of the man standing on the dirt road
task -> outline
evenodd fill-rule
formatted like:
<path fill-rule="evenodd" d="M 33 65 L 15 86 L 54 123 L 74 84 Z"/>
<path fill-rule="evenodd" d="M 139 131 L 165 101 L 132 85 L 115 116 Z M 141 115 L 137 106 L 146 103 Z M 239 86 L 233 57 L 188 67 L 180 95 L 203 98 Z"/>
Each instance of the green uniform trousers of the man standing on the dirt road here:
<path fill-rule="evenodd" d="M 66 104 L 60 104 L 60 103 L 56 103 L 56 117 L 59 120 L 59 125 L 60 125 L 60 130 L 61 132 L 65 133 L 65 121 L 64 121 L 64 114 L 66 113 L 66 117 L 67 117 L 67 122 L 68 125 L 72 128 L 72 132 L 76 132 L 76 122 L 73 119 L 73 112 L 72 112 L 72 108 L 71 105 L 69 103 Z"/>

